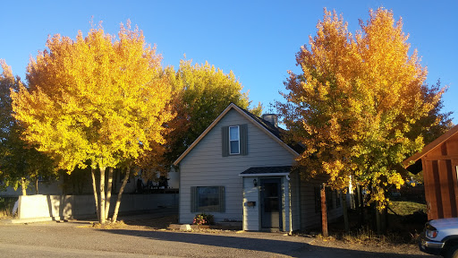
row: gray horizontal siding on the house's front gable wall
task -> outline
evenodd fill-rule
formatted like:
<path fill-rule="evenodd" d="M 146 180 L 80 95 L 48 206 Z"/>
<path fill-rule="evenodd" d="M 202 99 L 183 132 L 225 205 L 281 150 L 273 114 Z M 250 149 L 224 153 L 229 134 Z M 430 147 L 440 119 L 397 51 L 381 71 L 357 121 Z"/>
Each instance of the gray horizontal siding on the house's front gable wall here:
<path fill-rule="evenodd" d="M 221 127 L 248 125 L 248 155 L 222 157 Z M 293 154 L 235 110 L 230 110 L 180 162 L 180 223 L 191 223 L 191 186 L 225 186 L 225 212 L 216 221 L 242 220 L 242 177 L 251 167 L 291 166 Z M 253 218 L 254 219 L 254 218 Z"/>

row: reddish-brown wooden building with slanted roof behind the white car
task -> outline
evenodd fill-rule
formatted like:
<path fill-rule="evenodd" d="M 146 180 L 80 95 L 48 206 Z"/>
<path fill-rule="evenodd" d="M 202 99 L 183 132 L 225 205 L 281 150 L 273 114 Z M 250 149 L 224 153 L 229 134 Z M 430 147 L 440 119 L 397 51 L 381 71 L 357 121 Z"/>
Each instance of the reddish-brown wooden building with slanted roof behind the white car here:
<path fill-rule="evenodd" d="M 423 169 L 428 219 L 458 217 L 458 125 L 403 164 L 410 171 Z"/>

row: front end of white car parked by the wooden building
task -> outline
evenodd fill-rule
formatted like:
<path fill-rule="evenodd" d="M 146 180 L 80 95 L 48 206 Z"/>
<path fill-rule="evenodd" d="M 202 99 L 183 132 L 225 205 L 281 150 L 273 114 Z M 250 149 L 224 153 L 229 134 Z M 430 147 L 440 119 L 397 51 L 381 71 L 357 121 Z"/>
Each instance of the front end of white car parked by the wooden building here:
<path fill-rule="evenodd" d="M 420 236 L 419 247 L 427 254 L 458 258 L 458 218 L 429 220 Z"/>

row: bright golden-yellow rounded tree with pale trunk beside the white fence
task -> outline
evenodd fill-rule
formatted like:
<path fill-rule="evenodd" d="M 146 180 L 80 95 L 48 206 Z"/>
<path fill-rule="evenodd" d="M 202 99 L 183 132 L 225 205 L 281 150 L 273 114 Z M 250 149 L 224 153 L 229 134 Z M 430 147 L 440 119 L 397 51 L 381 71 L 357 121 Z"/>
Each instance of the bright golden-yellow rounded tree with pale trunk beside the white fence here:
<path fill-rule="evenodd" d="M 163 125 L 173 118 L 171 87 L 158 76 L 156 48 L 130 22 L 121 25 L 118 38 L 101 26 L 86 37 L 80 31 L 75 40 L 55 35 L 48 50 L 30 60 L 28 87 L 12 93 L 25 140 L 69 173 L 88 161 L 100 169 L 101 223 L 108 210 L 106 168 L 165 143 Z"/>

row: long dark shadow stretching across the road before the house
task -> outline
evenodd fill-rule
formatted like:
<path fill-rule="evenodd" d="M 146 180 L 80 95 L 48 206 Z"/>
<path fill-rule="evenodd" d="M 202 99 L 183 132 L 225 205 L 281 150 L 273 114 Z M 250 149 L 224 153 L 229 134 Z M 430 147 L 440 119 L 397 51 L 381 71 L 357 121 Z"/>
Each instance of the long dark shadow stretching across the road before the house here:
<path fill-rule="evenodd" d="M 284 239 L 266 239 L 266 236 L 258 237 L 252 235 L 245 236 L 221 236 L 208 235 L 199 233 L 182 233 L 170 231 L 142 231 L 129 229 L 109 229 L 104 230 L 106 233 L 125 235 L 125 236 L 140 236 L 151 240 L 171 241 L 177 243 L 187 243 L 195 245 L 211 245 L 218 247 L 228 247 L 235 249 L 245 249 L 251 251 L 260 251 L 273 254 L 291 255 L 293 257 L 393 257 L 393 258 L 411 258 L 411 257 L 434 257 L 431 255 L 418 254 L 394 254 L 394 253 L 376 253 L 357 250 L 347 250 L 333 247 L 323 247 L 318 245 L 309 245 L 304 238 L 293 236 L 276 235 L 272 238 Z M 245 233 L 242 233 L 245 234 Z M 248 233 L 250 234 L 250 233 Z M 262 235 L 259 235 L 262 236 Z M 291 241 L 287 238 L 291 237 Z M 395 250 L 394 250 L 395 251 Z M 338 255 L 338 256 L 335 256 Z"/>

